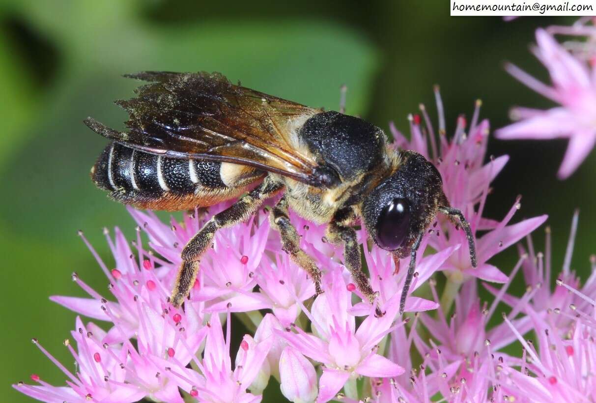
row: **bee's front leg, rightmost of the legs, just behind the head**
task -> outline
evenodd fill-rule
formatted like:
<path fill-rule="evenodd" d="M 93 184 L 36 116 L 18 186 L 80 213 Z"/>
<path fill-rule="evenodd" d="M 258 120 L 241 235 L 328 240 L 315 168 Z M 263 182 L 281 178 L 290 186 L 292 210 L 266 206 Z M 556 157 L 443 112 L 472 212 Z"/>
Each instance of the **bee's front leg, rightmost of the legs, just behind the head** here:
<path fill-rule="evenodd" d="M 360 244 L 356 237 L 356 231 L 353 228 L 348 227 L 344 223 L 349 221 L 351 216 L 346 213 L 344 216 L 344 223 L 340 220 L 342 218 L 342 212 L 336 215 L 336 219 L 331 221 L 327 226 L 327 240 L 334 244 L 343 243 L 343 261 L 347 269 L 350 271 L 352 278 L 356 281 L 356 287 L 358 290 L 368 299 L 368 302 L 374 303 L 377 298 L 377 293 L 373 291 L 368 276 L 362 271 L 362 257 L 360 253 Z M 375 308 L 375 315 L 382 317 L 385 313 L 381 311 L 378 306 Z"/>

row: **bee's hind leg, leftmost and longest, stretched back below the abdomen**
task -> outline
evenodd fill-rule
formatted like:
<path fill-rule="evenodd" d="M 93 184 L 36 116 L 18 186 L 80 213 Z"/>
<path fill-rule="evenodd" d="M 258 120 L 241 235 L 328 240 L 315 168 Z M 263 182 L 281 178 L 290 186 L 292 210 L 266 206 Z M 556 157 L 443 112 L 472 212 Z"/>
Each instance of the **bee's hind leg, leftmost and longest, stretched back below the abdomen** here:
<path fill-rule="evenodd" d="M 182 264 L 178 269 L 178 275 L 176 275 L 176 281 L 172 290 L 172 297 L 170 298 L 173 306 L 182 305 L 185 297 L 188 296 L 197 278 L 200 258 L 209 249 L 209 246 L 211 246 L 215 232 L 219 228 L 232 227 L 232 225 L 246 221 L 250 215 L 256 212 L 264 199 L 271 197 L 281 189 L 283 189 L 283 185 L 265 178 L 262 184 L 250 191 L 249 194 L 241 197 L 240 200 L 224 211 L 214 215 L 188 241 L 184 249 L 182 249 Z"/>

